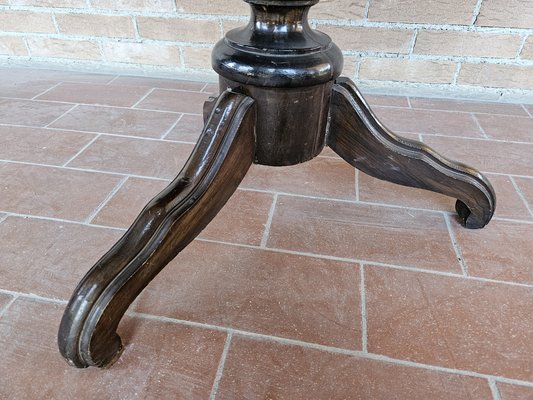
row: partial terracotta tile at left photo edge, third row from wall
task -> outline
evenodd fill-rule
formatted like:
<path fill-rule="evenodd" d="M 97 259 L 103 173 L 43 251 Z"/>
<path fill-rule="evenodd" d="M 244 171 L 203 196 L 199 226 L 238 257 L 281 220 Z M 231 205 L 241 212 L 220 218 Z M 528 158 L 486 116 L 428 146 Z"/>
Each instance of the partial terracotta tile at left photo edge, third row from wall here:
<path fill-rule="evenodd" d="M 72 104 L 0 98 L 0 124 L 44 127 L 72 108 Z"/>

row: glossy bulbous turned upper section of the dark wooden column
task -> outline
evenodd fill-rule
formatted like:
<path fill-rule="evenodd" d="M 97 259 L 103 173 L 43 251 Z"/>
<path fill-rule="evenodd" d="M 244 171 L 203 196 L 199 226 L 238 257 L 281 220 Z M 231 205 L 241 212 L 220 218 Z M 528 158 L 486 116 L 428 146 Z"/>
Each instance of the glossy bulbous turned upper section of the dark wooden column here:
<path fill-rule="evenodd" d="M 246 0 L 248 25 L 232 29 L 213 49 L 212 66 L 243 85 L 294 88 L 330 82 L 342 72 L 341 50 L 311 29 L 314 1 Z"/>

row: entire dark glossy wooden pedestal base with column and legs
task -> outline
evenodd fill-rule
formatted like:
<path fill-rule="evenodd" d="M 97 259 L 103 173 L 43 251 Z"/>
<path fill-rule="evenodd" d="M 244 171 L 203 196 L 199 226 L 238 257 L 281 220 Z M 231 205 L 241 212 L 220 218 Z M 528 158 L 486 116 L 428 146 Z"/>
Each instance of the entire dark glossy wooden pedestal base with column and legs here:
<path fill-rule="evenodd" d="M 457 198 L 468 228 L 492 218 L 495 195 L 483 175 L 389 132 L 354 83 L 337 80 L 340 50 L 307 22 L 318 0 L 246 1 L 250 23 L 213 51 L 222 94 L 204 107 L 191 157 L 87 273 L 65 310 L 58 343 L 74 366 L 105 367 L 119 357 L 116 329 L 129 305 L 213 219 L 253 162 L 297 164 L 327 144 L 372 176 Z"/>

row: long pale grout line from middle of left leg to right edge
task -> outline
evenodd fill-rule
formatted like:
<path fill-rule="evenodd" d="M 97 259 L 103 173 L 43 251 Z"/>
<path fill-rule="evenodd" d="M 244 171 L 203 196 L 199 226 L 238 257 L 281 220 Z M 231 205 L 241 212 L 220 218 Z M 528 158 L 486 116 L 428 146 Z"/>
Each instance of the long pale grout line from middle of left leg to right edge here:
<path fill-rule="evenodd" d="M 212 240 L 212 239 L 197 238 L 195 240 L 197 240 L 199 242 L 222 244 L 222 245 L 227 245 L 227 246 L 241 247 L 241 248 L 245 248 L 245 249 L 264 250 L 264 251 L 271 251 L 273 253 L 292 254 L 292 255 L 296 255 L 296 256 L 312 257 L 312 258 L 318 258 L 318 259 L 322 259 L 322 260 L 340 261 L 340 262 L 352 263 L 352 264 L 364 264 L 364 265 L 369 266 L 369 267 L 390 268 L 390 269 L 406 271 L 406 272 L 417 272 L 417 273 L 423 273 L 423 274 L 445 276 L 445 277 L 449 277 L 449 278 L 466 279 L 466 280 L 472 280 L 472 281 L 478 281 L 478 282 L 484 282 L 484 283 L 494 283 L 494 284 L 500 284 L 500 285 L 533 288 L 533 284 L 529 284 L 529 283 L 519 283 L 519 282 L 513 282 L 513 281 L 501 281 L 501 280 L 497 280 L 497 279 L 483 278 L 483 277 L 472 276 L 472 275 L 464 276 L 462 273 L 459 274 L 459 273 L 456 273 L 456 272 L 438 271 L 438 270 L 423 269 L 423 268 L 412 267 L 412 266 L 386 264 L 386 263 L 381 263 L 381 262 L 378 262 L 378 261 L 359 260 L 359 259 L 353 259 L 353 258 L 343 258 L 343 257 L 336 257 L 336 256 L 328 256 L 328 255 L 324 255 L 324 254 L 306 253 L 306 252 L 302 252 L 302 251 L 286 250 L 286 249 L 279 249 L 279 248 L 272 248 L 272 247 L 261 248 L 259 246 L 254 246 L 254 245 L 249 245 L 249 244 L 231 243 L 231 242 L 224 242 L 224 241 Z"/>

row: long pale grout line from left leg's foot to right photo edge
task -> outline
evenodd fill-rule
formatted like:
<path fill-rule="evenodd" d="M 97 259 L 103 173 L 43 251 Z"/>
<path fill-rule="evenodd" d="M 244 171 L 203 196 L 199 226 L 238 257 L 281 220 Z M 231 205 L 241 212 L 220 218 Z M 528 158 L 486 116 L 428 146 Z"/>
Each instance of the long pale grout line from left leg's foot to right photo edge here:
<path fill-rule="evenodd" d="M 298 339 L 272 336 L 272 335 L 267 335 L 267 334 L 262 334 L 262 333 L 257 333 L 257 332 L 244 331 L 244 330 L 230 328 L 230 327 L 207 324 L 203 322 L 180 320 L 177 318 L 171 318 L 171 317 L 165 317 L 165 316 L 157 316 L 153 314 L 146 314 L 146 313 L 139 313 L 139 312 L 127 312 L 126 314 L 132 317 L 137 317 L 137 318 L 141 318 L 145 320 L 166 322 L 166 323 L 172 323 L 176 325 L 189 326 L 189 327 L 200 328 L 200 329 L 215 330 L 218 332 L 228 332 L 228 333 L 232 333 L 233 336 L 249 337 L 255 340 L 267 340 L 270 342 L 284 344 L 284 345 L 299 346 L 299 347 L 303 347 L 306 349 L 324 351 L 330 354 L 342 354 L 342 355 L 347 355 L 351 357 L 360 357 L 363 359 L 381 361 L 381 362 L 385 362 L 385 363 L 393 364 L 393 365 L 407 366 L 407 367 L 419 368 L 419 369 L 424 369 L 424 370 L 430 370 L 430 371 L 448 373 L 448 374 L 460 375 L 460 376 L 471 376 L 471 377 L 476 377 L 476 378 L 481 378 L 481 379 L 486 379 L 486 380 L 493 379 L 495 382 L 505 382 L 505 383 L 510 383 L 514 385 L 533 387 L 533 381 L 531 382 L 522 381 L 519 379 L 506 378 L 503 376 L 484 374 L 484 373 L 475 372 L 475 371 L 442 367 L 442 366 L 431 365 L 431 364 L 423 364 L 421 362 L 402 360 L 398 358 L 389 357 L 383 354 L 364 353 L 360 350 L 350 350 L 350 349 L 345 349 L 345 348 L 322 345 L 319 343 L 304 342 Z"/>

